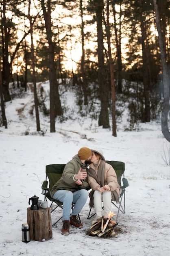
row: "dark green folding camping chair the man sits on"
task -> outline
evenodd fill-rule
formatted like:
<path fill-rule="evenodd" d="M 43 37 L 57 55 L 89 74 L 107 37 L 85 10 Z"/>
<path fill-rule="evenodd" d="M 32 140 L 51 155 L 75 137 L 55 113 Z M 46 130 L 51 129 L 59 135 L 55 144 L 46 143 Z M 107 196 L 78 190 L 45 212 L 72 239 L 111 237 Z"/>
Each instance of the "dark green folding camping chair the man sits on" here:
<path fill-rule="evenodd" d="M 44 195 L 44 201 L 50 200 L 50 209 L 51 213 L 57 209 L 58 207 L 63 209 L 63 202 L 60 202 L 54 198 L 52 198 L 51 189 L 54 186 L 54 184 L 61 178 L 61 175 L 63 173 L 65 164 L 49 164 L 46 165 L 46 180 L 44 180 L 41 189 L 42 193 Z M 49 180 L 49 186 L 48 186 L 48 180 Z M 55 207 L 52 209 L 52 204 L 55 203 Z M 74 207 L 74 203 L 72 204 L 72 208 Z M 59 220 L 61 220 L 62 216 L 52 225 L 56 225 Z M 78 215 L 78 218 L 80 220 L 80 217 Z M 80 220 L 81 222 L 81 220 Z"/>

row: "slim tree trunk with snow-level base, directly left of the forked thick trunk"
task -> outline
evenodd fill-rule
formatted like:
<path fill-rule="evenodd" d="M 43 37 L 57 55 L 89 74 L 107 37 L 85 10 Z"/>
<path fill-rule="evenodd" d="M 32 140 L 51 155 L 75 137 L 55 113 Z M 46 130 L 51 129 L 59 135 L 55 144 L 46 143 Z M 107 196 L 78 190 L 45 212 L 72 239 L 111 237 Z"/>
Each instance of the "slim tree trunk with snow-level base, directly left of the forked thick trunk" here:
<path fill-rule="evenodd" d="M 30 16 L 30 7 L 31 7 L 31 0 L 29 0 L 29 5 L 28 5 L 28 19 L 30 21 L 30 34 L 31 34 L 31 58 L 32 58 L 32 68 L 33 68 L 35 116 L 36 116 L 36 123 L 37 123 L 37 132 L 39 132 L 41 129 L 40 129 L 40 122 L 39 122 L 38 97 L 37 97 L 37 86 L 36 86 L 36 75 L 35 75 L 35 57 L 34 57 L 34 45 L 33 45 L 33 23 L 32 23 L 32 18 Z"/>

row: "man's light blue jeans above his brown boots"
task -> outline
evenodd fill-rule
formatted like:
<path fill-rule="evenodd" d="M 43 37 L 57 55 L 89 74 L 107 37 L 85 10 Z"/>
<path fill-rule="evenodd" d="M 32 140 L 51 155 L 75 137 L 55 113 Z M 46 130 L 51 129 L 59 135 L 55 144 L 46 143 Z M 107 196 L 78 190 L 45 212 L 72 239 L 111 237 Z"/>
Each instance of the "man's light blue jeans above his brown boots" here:
<path fill-rule="evenodd" d="M 89 193 L 86 189 L 80 189 L 75 192 L 69 190 L 58 190 L 54 193 L 53 198 L 63 202 L 63 218 L 62 220 L 70 220 L 70 212 L 72 203 L 75 203 L 71 215 L 77 215 L 85 205 Z"/>

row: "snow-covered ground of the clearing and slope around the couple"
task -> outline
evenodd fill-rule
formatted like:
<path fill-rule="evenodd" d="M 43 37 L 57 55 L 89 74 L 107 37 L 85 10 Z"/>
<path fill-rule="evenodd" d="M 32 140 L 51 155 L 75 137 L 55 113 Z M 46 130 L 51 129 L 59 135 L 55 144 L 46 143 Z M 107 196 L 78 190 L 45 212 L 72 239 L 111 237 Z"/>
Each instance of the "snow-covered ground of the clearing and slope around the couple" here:
<path fill-rule="evenodd" d="M 42 85 L 48 88 L 48 83 Z M 6 104 L 8 129 L 0 127 L 0 255 L 169 256 L 170 143 L 163 138 L 161 124 L 140 124 L 138 132 L 119 129 L 113 137 L 111 130 L 98 127 L 98 121 L 78 116 L 71 91 L 63 93 L 62 99 L 74 118 L 56 121 L 56 132 L 50 133 L 48 118 L 40 115 L 45 136 L 36 133 L 30 90 L 24 98 Z M 60 221 L 51 240 L 23 243 L 28 200 L 33 195 L 44 200 L 41 184 L 46 165 L 67 163 L 83 146 L 101 148 L 107 160 L 125 162 L 129 187 L 118 234 L 113 238 L 86 235 L 93 220 L 87 220 L 87 200 L 80 214 L 83 229 L 70 227 L 70 235 L 62 236 Z M 112 211 L 116 213 L 116 208 Z M 55 222 L 62 211 L 51 215 Z"/>

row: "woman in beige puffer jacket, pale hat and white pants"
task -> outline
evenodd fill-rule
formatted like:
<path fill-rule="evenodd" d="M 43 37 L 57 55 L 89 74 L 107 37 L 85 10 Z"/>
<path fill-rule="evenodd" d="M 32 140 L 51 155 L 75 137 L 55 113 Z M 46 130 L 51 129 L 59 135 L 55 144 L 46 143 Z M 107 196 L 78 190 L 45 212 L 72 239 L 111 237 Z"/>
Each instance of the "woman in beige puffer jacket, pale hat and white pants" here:
<path fill-rule="evenodd" d="M 96 221 L 102 217 L 102 201 L 104 218 L 108 218 L 111 211 L 111 201 L 119 202 L 122 192 L 118 184 L 116 172 L 110 164 L 105 162 L 101 149 L 91 149 L 92 159 L 87 173 L 87 182 L 92 191 L 89 193 L 90 207 L 94 207 Z"/>

